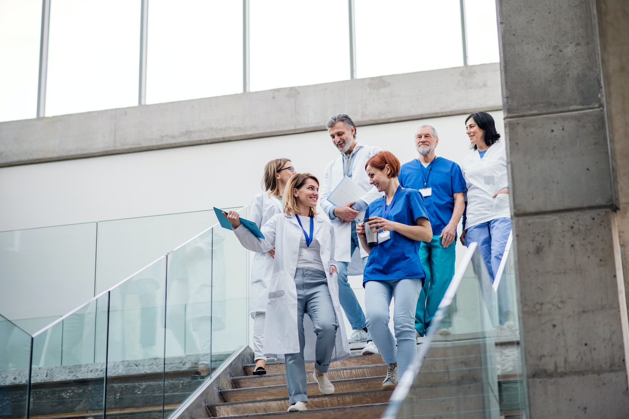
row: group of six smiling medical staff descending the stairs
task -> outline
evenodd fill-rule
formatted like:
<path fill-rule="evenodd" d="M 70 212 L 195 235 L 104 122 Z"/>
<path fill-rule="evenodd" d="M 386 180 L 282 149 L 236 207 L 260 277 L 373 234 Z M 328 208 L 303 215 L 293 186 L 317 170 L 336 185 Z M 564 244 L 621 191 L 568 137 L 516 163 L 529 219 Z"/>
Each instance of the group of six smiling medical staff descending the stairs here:
<path fill-rule="evenodd" d="M 267 357 L 286 362 L 289 411 L 306 410 L 307 362 L 315 362 L 321 393 L 334 392 L 326 373 L 330 362 L 350 355 L 349 342 L 365 342 L 363 354 L 380 352 L 389 364 L 382 388 L 397 386 L 454 275 L 461 217 L 461 242 L 479 243 L 493 279 L 511 228 L 506 153 L 491 115 L 473 113 L 465 126 L 474 152 L 461 166 L 437 157 L 437 131 L 428 125 L 415 133 L 418 159 L 401 165 L 391 152 L 357 142 L 349 116 L 332 116 L 326 127 L 340 155 L 326 166 L 322 184 L 298 174 L 288 159 L 265 166 L 265 192 L 253 198 L 250 215 L 264 238 L 244 228 L 235 211 L 226 213 L 238 240 L 256 252 L 253 374 L 266 373 Z M 345 176 L 364 194 L 335 206 L 327 198 Z M 365 222 L 357 218 L 362 211 Z M 377 233 L 376 247 L 367 243 L 367 228 Z M 366 315 L 347 278 L 360 273 Z M 353 330 L 349 340 L 341 310 Z M 447 321 L 438 333 L 450 333 Z"/>

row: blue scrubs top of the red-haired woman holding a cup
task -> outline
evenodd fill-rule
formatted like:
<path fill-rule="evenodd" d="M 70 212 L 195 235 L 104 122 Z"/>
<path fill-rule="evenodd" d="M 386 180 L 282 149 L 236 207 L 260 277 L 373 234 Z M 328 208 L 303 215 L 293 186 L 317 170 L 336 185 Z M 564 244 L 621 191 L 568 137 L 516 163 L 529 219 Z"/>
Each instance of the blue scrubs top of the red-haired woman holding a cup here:
<path fill-rule="evenodd" d="M 385 211 L 387 211 L 386 217 Z M 390 205 L 386 205 L 384 196 L 372 201 L 365 211 L 365 218 L 370 216 L 379 216 L 406 225 L 416 225 L 416 220 L 420 217 L 428 218 L 428 213 L 418 191 L 402 189 L 400 186 Z M 391 232 L 389 240 L 378 243 L 369 252 L 362 277 L 363 286 L 367 281 L 426 277 L 419 256 L 420 243 L 401 233 Z"/>

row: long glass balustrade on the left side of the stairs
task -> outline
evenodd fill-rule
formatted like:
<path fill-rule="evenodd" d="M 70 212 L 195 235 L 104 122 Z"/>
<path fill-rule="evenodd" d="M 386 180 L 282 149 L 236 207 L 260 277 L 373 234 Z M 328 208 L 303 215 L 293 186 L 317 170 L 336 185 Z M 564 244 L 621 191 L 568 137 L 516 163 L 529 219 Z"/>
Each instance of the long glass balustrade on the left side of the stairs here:
<path fill-rule="evenodd" d="M 168 417 L 247 343 L 248 252 L 214 225 L 32 335 L 0 316 L 0 418 Z"/>

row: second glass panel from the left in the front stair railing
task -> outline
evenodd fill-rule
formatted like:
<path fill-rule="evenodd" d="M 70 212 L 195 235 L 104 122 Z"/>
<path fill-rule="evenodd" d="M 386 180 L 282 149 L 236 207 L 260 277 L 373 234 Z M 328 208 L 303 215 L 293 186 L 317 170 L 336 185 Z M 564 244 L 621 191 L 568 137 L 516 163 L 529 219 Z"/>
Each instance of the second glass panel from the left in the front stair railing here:
<path fill-rule="evenodd" d="M 108 294 L 33 337 L 30 416 L 103 417 Z"/>

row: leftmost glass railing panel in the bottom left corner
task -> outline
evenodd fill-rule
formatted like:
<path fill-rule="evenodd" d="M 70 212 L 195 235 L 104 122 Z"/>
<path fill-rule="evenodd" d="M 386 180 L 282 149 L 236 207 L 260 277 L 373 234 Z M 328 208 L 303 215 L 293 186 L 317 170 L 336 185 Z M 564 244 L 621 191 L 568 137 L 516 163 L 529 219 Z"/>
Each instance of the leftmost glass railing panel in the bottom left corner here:
<path fill-rule="evenodd" d="M 26 418 L 31 337 L 0 316 L 0 418 Z"/>

